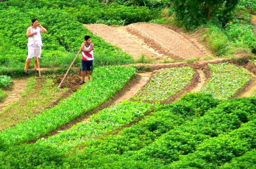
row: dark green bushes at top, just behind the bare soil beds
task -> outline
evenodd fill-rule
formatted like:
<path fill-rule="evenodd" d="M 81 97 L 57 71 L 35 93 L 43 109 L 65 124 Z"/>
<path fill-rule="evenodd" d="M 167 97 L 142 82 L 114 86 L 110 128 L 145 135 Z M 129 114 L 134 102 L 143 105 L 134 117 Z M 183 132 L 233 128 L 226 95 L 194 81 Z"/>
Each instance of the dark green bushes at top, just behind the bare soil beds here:
<path fill-rule="evenodd" d="M 84 13 L 90 9 L 90 13 Z M 78 18 L 83 24 L 105 23 L 111 24 L 114 20 L 121 24 L 127 25 L 136 22 L 148 22 L 153 18 L 160 16 L 156 10 L 150 10 L 147 7 L 123 6 L 113 4 L 88 4 L 78 8 L 70 8 L 70 12 Z"/>

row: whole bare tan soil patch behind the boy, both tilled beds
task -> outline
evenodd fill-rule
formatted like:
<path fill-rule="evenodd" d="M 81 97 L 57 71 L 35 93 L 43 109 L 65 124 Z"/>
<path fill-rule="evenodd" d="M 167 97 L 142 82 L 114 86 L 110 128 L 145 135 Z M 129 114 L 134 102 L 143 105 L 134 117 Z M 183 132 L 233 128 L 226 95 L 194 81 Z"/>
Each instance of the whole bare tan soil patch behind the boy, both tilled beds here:
<path fill-rule="evenodd" d="M 84 25 L 106 42 L 121 48 L 135 59 L 145 55 L 156 60 L 184 60 L 210 55 L 196 39 L 189 40 L 180 33 L 159 24 L 135 23 L 129 26 Z"/>

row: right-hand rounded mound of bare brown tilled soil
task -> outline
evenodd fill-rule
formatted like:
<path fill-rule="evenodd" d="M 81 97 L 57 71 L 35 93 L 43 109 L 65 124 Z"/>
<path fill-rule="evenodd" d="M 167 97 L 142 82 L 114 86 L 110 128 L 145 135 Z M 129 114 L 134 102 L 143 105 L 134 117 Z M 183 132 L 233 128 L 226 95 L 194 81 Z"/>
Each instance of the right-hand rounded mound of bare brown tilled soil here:
<path fill-rule="evenodd" d="M 204 57 L 204 51 L 175 31 L 158 24 L 130 24 L 126 30 L 139 36 L 152 48 L 173 59 L 184 60 Z"/>

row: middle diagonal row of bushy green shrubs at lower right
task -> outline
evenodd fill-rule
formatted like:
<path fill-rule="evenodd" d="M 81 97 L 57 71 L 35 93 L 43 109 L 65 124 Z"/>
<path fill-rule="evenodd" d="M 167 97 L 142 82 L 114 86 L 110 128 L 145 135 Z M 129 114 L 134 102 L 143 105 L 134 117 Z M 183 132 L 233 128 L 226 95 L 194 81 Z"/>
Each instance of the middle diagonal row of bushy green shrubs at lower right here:
<path fill-rule="evenodd" d="M 160 136 L 152 144 L 139 151 L 130 151 L 125 156 L 144 161 L 161 159 L 165 164 L 177 161 L 180 155 L 194 152 L 204 140 L 231 132 L 241 124 L 256 119 L 256 108 L 253 108 L 255 101 L 234 99 L 221 103 L 206 111 L 204 116 L 193 121 L 187 120 Z"/>

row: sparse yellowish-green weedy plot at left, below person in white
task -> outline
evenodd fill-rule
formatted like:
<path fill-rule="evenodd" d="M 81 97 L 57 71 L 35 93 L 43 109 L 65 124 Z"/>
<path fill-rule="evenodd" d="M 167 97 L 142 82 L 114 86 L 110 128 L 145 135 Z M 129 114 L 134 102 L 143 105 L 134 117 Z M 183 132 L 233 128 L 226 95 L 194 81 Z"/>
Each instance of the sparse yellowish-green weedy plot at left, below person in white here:
<path fill-rule="evenodd" d="M 50 107 L 50 103 L 58 100 L 67 88 L 58 88 L 56 79 L 30 77 L 26 89 L 20 94 L 19 100 L 5 107 L 0 114 L 0 130 L 7 129 L 24 119 L 31 118 Z"/>

